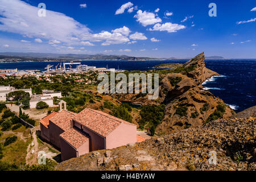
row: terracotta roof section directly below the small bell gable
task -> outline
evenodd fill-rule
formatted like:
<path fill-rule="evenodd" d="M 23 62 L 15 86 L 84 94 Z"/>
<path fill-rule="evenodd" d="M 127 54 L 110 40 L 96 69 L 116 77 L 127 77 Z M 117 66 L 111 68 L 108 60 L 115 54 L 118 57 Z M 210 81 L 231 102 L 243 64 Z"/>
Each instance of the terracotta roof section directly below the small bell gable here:
<path fill-rule="evenodd" d="M 72 113 L 70 111 L 62 110 L 59 113 L 55 114 L 55 116 L 49 118 L 49 121 L 55 123 L 55 125 L 66 131 L 71 127 L 71 118 L 75 115 L 75 113 Z"/>

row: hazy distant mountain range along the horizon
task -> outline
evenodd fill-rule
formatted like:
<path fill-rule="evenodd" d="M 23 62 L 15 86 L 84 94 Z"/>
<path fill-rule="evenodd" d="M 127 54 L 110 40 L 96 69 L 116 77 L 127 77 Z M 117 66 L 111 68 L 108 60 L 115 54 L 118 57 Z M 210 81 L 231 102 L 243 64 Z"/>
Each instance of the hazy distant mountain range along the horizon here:
<path fill-rule="evenodd" d="M 0 52 L 0 59 L 19 59 L 19 61 L 42 61 L 42 60 L 171 60 L 181 59 L 177 57 L 154 58 L 154 57 L 134 57 L 126 55 L 88 55 L 88 54 L 60 54 L 60 53 L 36 53 L 36 52 Z M 191 59 L 191 58 L 185 58 Z M 224 59 L 221 56 L 209 56 L 205 59 Z"/>

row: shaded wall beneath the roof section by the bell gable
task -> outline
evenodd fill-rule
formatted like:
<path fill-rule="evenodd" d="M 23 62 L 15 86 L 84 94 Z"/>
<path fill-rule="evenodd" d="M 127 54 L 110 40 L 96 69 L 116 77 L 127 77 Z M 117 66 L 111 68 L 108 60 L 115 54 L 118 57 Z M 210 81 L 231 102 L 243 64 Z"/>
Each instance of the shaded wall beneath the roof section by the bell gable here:
<path fill-rule="evenodd" d="M 50 142 L 56 147 L 60 148 L 60 134 L 64 132 L 59 126 L 55 125 L 55 123 L 49 121 L 49 139 Z"/>

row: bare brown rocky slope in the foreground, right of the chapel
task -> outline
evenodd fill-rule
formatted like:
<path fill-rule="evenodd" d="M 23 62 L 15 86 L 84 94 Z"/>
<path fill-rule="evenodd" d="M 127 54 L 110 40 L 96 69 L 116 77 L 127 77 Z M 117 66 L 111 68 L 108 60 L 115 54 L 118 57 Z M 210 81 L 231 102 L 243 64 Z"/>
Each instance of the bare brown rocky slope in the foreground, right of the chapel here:
<path fill-rule="evenodd" d="M 255 170 L 256 118 L 221 119 L 141 143 L 94 151 L 57 170 Z"/>

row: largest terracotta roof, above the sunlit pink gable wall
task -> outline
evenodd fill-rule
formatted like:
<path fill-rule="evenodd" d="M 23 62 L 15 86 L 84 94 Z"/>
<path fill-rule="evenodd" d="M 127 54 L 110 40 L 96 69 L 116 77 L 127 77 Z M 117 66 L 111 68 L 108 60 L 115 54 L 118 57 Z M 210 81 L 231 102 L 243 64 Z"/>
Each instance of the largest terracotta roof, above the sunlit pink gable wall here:
<path fill-rule="evenodd" d="M 80 113 L 76 114 L 73 119 L 103 137 L 106 137 L 108 134 L 110 134 L 121 123 L 134 125 L 127 121 L 123 121 L 122 119 L 113 117 L 112 115 L 106 114 L 102 111 L 89 108 L 86 108 Z"/>

